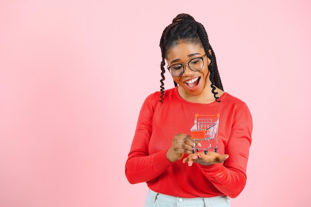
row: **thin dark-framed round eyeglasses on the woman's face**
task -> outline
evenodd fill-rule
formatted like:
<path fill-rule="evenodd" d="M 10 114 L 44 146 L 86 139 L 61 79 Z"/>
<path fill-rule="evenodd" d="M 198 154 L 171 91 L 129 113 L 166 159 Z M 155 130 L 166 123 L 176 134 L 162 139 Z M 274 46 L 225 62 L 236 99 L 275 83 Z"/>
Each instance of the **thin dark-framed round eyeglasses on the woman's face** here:
<path fill-rule="evenodd" d="M 193 71 L 199 71 L 203 69 L 203 66 L 204 66 L 203 59 L 205 58 L 205 56 L 206 54 L 201 58 L 194 58 L 190 60 L 188 63 L 174 64 L 171 66 L 167 66 L 167 69 L 170 72 L 170 74 L 173 75 L 174 77 L 179 77 L 185 72 L 185 67 L 184 67 L 185 64 L 188 64 L 189 69 Z"/>

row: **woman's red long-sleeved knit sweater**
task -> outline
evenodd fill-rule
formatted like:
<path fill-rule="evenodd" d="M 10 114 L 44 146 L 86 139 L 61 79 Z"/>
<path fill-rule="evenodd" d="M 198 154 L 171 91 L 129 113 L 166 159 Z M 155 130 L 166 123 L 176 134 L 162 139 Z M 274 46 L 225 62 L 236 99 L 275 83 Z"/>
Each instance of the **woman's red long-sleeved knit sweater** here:
<path fill-rule="evenodd" d="M 183 100 L 177 87 L 166 90 L 163 103 L 156 92 L 145 100 L 125 166 L 130 183 L 147 182 L 155 192 L 184 198 L 238 196 L 246 183 L 252 119 L 244 102 L 224 93 L 210 104 Z M 166 158 L 177 133 L 190 135 L 194 115 L 220 114 L 218 153 L 229 154 L 225 163 L 191 167 Z M 187 157 L 185 154 L 183 158 Z"/>

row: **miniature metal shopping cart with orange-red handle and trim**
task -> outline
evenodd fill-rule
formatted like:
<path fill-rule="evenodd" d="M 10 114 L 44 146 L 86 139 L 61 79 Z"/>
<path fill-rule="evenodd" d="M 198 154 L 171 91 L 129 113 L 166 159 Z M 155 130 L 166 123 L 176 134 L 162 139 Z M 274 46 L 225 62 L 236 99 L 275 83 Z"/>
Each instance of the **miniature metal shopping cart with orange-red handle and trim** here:
<path fill-rule="evenodd" d="M 204 150 L 204 154 L 207 154 L 209 149 L 214 149 L 215 152 L 218 151 L 218 124 L 219 124 L 220 114 L 216 115 L 199 115 L 195 114 L 194 125 L 191 128 L 191 137 L 193 140 L 198 140 L 202 144 L 201 147 L 194 146 L 192 148 L 192 153 L 195 151 Z M 207 140 L 202 142 L 202 140 Z"/>

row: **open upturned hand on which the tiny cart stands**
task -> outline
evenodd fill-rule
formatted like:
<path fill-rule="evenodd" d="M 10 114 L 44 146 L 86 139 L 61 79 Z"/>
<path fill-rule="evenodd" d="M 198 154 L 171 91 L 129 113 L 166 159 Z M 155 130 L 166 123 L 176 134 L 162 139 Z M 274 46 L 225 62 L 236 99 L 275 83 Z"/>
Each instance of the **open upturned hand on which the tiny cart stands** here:
<path fill-rule="evenodd" d="M 183 163 L 188 162 L 189 166 L 192 166 L 194 162 L 199 163 L 201 165 L 214 165 L 216 163 L 222 163 L 226 159 L 228 159 L 228 154 L 218 154 L 217 152 L 209 151 L 207 154 L 204 154 L 204 152 L 197 152 L 194 154 L 189 154 L 188 157 L 184 158 L 182 160 Z"/>

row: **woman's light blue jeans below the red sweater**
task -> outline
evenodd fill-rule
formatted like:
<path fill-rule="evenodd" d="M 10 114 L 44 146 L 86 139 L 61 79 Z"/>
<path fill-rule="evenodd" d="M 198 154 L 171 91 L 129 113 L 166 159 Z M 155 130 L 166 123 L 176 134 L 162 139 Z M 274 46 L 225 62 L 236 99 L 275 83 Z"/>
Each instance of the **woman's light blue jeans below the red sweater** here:
<path fill-rule="evenodd" d="M 180 198 L 148 191 L 145 207 L 230 207 L 228 196 L 212 198 Z"/>

